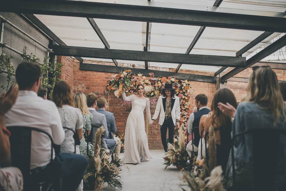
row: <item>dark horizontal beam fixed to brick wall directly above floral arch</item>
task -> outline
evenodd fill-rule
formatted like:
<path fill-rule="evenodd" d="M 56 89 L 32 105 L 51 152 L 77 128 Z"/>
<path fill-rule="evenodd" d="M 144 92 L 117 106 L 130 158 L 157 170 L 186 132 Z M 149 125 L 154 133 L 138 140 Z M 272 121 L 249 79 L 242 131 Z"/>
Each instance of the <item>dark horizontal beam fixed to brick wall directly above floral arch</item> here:
<path fill-rule="evenodd" d="M 109 72 L 109 73 L 119 73 L 124 71 L 125 69 L 131 69 L 134 74 L 141 73 L 144 76 L 149 76 L 150 72 L 153 72 L 156 77 L 158 76 L 175 76 L 177 79 L 184 79 L 190 81 L 201 81 L 208 83 L 216 83 L 217 77 L 215 76 L 204 76 L 197 74 L 184 74 L 184 73 L 176 73 L 176 72 L 165 72 L 158 70 L 145 70 L 139 68 L 130 68 L 130 67 L 120 67 L 120 66 L 108 66 L 108 65 L 100 65 L 100 64 L 85 64 L 80 63 L 80 70 L 90 70 L 97 72 Z"/>

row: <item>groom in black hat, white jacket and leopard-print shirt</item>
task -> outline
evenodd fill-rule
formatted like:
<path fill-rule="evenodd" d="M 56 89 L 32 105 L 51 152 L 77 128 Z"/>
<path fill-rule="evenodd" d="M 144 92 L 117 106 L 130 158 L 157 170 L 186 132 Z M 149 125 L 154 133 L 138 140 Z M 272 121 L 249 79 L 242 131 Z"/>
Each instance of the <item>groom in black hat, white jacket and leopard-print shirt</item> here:
<path fill-rule="evenodd" d="M 173 144 L 175 126 L 178 128 L 180 121 L 180 101 L 179 97 L 175 96 L 175 89 L 173 89 L 172 84 L 165 84 L 162 89 L 162 96 L 159 96 L 156 110 L 152 118 L 153 121 L 157 119 L 159 113 L 161 141 L 165 152 L 167 152 L 167 129 L 169 130 L 169 143 Z"/>

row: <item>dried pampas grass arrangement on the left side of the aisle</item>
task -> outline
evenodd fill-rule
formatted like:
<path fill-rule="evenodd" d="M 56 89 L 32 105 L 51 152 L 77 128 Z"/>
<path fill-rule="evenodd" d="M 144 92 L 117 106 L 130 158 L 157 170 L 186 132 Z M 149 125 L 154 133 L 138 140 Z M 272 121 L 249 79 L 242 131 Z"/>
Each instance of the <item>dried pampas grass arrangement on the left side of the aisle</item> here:
<path fill-rule="evenodd" d="M 95 134 L 94 156 L 88 158 L 88 166 L 83 180 L 86 187 L 95 191 L 102 190 L 105 183 L 112 189 L 116 187 L 122 189 L 120 180 L 122 169 L 120 166 L 118 167 L 119 162 L 116 161 L 116 164 L 109 163 L 109 153 L 106 149 L 100 148 L 103 132 L 104 128 L 101 126 Z"/>

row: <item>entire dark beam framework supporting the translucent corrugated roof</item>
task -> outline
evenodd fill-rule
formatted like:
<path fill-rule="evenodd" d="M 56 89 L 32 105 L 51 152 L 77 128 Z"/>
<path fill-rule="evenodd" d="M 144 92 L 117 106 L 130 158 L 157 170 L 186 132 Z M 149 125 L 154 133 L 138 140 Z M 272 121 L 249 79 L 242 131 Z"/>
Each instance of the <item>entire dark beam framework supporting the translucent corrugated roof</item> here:
<path fill-rule="evenodd" d="M 119 0 L 120 1 L 120 0 Z M 273 32 L 286 32 L 286 13 L 273 12 L 273 11 L 260 11 L 260 10 L 243 10 L 218 7 L 222 0 L 216 0 L 214 6 L 197 6 L 197 5 L 182 5 L 166 4 L 161 2 L 148 1 L 133 1 L 132 4 L 114 4 L 105 2 L 88 2 L 88 1 L 32 1 L 25 2 L 19 0 L 10 0 L 2 4 L 0 11 L 24 13 L 24 15 L 38 26 L 44 33 L 50 36 L 59 45 L 51 45 L 54 48 L 55 55 L 63 56 L 76 56 L 82 63 L 83 59 L 78 57 L 84 55 L 86 57 L 94 58 L 117 58 L 123 60 L 139 60 L 145 61 L 145 69 L 148 69 L 147 61 L 167 62 L 167 63 L 181 63 L 181 64 L 197 64 L 209 66 L 223 66 L 215 73 L 215 76 L 225 70 L 227 67 L 234 66 L 234 70 L 226 73 L 221 77 L 221 81 L 226 81 L 235 74 L 251 67 L 262 58 L 275 52 L 281 47 L 286 45 L 286 36 L 273 42 L 271 45 L 252 56 L 245 61 L 241 57 L 243 53 L 255 46 L 263 39 L 267 38 Z M 48 27 L 46 27 L 39 19 L 32 14 L 46 14 L 57 16 L 76 16 L 86 17 L 91 26 L 97 32 L 99 38 L 105 45 L 106 49 L 87 48 L 87 47 L 70 47 L 61 41 Z M 94 19 L 115 19 L 115 20 L 129 20 L 129 21 L 144 21 L 147 22 L 146 32 L 146 47 L 144 51 L 133 50 L 112 50 L 99 27 L 95 24 Z M 92 22 L 93 20 L 93 22 Z M 148 52 L 148 34 L 149 22 L 169 23 L 169 24 L 183 24 L 202 26 L 197 35 L 193 39 L 186 54 L 178 53 L 158 53 Z M 211 55 L 189 55 L 205 27 L 221 27 L 232 29 L 245 29 L 245 30 L 264 30 L 256 39 L 251 41 L 241 50 L 236 53 L 237 57 L 230 56 L 211 56 Z M 109 50 L 108 50 L 109 49 Z M 96 53 L 92 54 L 91 51 Z M 62 52 L 60 52 L 62 51 Z M 132 55 L 136 54 L 136 55 Z M 121 54 L 121 56 L 119 55 Z M 130 54 L 130 55 L 128 55 Z M 102 56 L 103 55 L 103 56 Z M 184 55 L 184 56 L 183 56 Z M 115 56 L 115 57 L 112 57 Z M 187 59 L 192 59 L 188 61 Z M 212 59 L 212 60 L 211 60 Z M 221 59 L 218 62 L 218 59 Z M 230 61 L 228 64 L 226 61 Z M 244 59 L 244 60 L 241 60 Z M 117 61 L 114 60 L 117 66 Z M 244 64 L 241 64 L 244 62 Z M 181 64 L 176 69 L 178 72 Z M 82 65 L 82 64 L 81 64 Z"/>

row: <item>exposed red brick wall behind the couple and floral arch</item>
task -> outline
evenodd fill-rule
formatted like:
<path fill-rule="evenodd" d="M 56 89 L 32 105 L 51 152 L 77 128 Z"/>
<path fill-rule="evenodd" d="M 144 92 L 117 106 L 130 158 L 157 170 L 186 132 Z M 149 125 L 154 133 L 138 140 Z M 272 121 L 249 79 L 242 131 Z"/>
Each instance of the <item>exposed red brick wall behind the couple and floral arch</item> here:
<path fill-rule="evenodd" d="M 95 72 L 95 71 L 85 71 L 79 70 L 79 62 L 77 60 L 71 60 L 70 57 L 60 57 L 58 56 L 58 61 L 61 61 L 65 64 L 63 67 L 62 79 L 67 81 L 73 89 L 73 92 L 83 92 L 90 93 L 93 92 L 98 97 L 105 96 L 104 90 L 107 80 L 114 75 L 114 73 L 103 73 L 103 72 Z M 88 62 L 88 61 L 87 61 Z M 102 63 L 100 63 L 102 64 Z M 104 63 L 108 65 L 113 65 L 113 63 Z M 100 66 L 99 66 L 100 67 Z M 136 66 L 137 67 L 137 66 Z M 157 69 L 158 68 L 152 68 Z M 174 71 L 175 69 L 166 69 L 165 71 Z M 231 70 L 231 69 L 229 69 Z M 71 72 L 72 71 L 72 72 Z M 286 70 L 274 70 L 278 76 L 279 80 L 286 81 Z M 213 76 L 214 73 L 211 72 L 198 72 L 198 71 L 189 71 L 189 70 L 180 70 L 180 72 L 184 73 L 192 73 L 199 75 L 208 75 Z M 246 69 L 243 72 L 237 74 L 235 77 L 244 77 L 248 78 L 252 72 L 252 69 Z M 233 91 L 237 100 L 240 100 L 241 97 L 246 94 L 246 86 L 247 83 L 244 82 L 227 82 L 225 83 L 226 87 Z M 209 98 L 208 106 L 211 106 L 213 96 L 216 92 L 216 84 L 206 83 L 206 82 L 191 82 L 191 110 L 195 106 L 195 96 L 204 93 Z M 131 110 L 131 105 L 124 103 L 122 97 L 116 98 L 114 95 L 105 96 L 109 100 L 109 111 L 114 113 L 117 130 L 120 133 L 125 132 L 125 125 L 127 117 Z M 156 103 L 154 101 L 158 99 L 158 97 L 150 98 L 151 104 L 151 115 L 154 114 Z M 152 104 L 154 103 L 154 104 Z M 144 115 L 146 116 L 145 112 Z M 146 119 L 146 117 L 145 117 Z M 145 121 L 146 128 L 146 121 Z M 163 149 L 161 144 L 161 136 L 160 136 L 160 127 L 158 125 L 158 119 L 152 125 L 148 124 L 148 143 L 149 148 L 152 150 Z"/>

